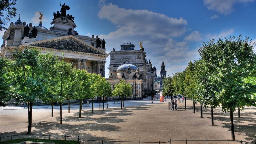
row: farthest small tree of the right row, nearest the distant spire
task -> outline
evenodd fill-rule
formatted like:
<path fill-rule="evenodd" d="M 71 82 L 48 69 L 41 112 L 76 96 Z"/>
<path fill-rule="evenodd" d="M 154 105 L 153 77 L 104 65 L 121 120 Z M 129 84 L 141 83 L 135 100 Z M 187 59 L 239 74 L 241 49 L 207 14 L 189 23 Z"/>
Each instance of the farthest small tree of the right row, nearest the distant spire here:
<path fill-rule="evenodd" d="M 163 95 L 164 96 L 169 96 L 171 97 L 171 100 L 173 99 L 172 96 L 173 96 L 173 92 L 174 92 L 174 89 L 173 89 L 173 85 L 172 85 L 172 77 L 166 77 L 163 79 Z"/>

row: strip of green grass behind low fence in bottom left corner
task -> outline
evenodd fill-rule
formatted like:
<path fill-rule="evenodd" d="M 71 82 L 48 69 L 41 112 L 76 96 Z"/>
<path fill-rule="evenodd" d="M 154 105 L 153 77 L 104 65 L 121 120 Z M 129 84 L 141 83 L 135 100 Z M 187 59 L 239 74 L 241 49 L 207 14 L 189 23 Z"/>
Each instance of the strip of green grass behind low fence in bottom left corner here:
<path fill-rule="evenodd" d="M 15 140 L 6 140 L 1 142 L 0 144 L 20 143 L 22 141 L 55 142 L 55 144 L 78 144 L 77 140 L 46 140 L 46 139 L 15 139 Z"/>

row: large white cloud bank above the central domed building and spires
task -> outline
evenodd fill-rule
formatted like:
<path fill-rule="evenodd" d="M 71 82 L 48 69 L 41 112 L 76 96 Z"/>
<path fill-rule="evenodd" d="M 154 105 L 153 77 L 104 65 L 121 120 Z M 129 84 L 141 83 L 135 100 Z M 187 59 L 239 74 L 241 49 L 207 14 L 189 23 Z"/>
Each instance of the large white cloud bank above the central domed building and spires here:
<path fill-rule="evenodd" d="M 105 38 L 107 51 L 112 51 L 112 48 L 120 50 L 120 44 L 124 42 L 132 42 L 135 49 L 139 50 L 139 41 L 143 41 L 146 59 L 150 59 L 156 66 L 157 75 L 161 70 L 162 58 L 170 76 L 185 68 L 184 65 L 187 65 L 189 60 L 199 58 L 197 48 L 189 49 L 187 42 L 172 39 L 184 35 L 187 31 L 188 22 L 183 18 L 172 18 L 148 10 L 128 10 L 113 4 L 104 5 L 98 16 L 116 25 L 115 31 L 99 35 L 101 39 Z M 105 76 L 108 77 L 109 58 L 106 61 Z M 180 69 L 170 69 L 173 66 L 180 66 Z"/>

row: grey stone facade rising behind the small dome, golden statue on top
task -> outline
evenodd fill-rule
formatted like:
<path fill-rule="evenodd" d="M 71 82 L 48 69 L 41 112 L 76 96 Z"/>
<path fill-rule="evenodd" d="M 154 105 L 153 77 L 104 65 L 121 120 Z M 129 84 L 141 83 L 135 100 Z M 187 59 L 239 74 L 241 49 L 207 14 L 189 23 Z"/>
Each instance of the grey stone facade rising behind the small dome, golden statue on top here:
<path fill-rule="evenodd" d="M 150 60 L 148 62 L 146 59 L 146 52 L 144 52 L 144 48 L 141 48 L 140 50 L 135 50 L 134 48 L 134 44 L 124 43 L 121 45 L 121 49 L 119 51 L 116 51 L 113 48 L 113 51 L 109 52 L 110 64 L 108 67 L 108 81 L 111 83 L 113 89 L 114 83 L 111 82 L 111 79 L 118 79 L 120 74 L 118 71 L 119 66 L 129 62 L 138 68 L 136 75 L 138 75 L 139 79 L 142 80 L 142 84 L 140 85 L 141 95 L 142 97 L 146 97 L 148 92 L 154 91 L 154 72 Z M 125 71 L 125 69 L 123 71 Z"/>

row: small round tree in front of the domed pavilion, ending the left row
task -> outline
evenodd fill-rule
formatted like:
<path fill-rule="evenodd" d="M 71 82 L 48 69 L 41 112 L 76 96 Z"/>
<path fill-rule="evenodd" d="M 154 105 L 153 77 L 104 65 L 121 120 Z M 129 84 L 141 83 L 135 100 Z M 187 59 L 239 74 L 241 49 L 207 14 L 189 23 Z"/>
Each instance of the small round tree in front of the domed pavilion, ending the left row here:
<path fill-rule="evenodd" d="M 114 96 L 121 97 L 121 108 L 122 108 L 122 100 L 124 107 L 124 97 L 129 97 L 132 95 L 132 86 L 130 84 L 126 84 L 124 80 L 121 80 L 119 84 L 115 85 L 115 90 L 113 91 Z"/>

